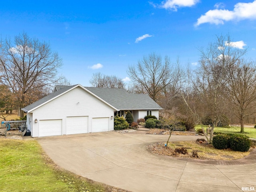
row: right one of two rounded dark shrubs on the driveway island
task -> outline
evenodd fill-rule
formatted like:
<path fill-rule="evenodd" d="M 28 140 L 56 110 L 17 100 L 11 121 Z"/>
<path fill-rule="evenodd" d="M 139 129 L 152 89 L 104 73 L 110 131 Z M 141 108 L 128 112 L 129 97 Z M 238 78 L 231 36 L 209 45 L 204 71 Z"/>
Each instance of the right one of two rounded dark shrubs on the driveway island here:
<path fill-rule="evenodd" d="M 246 152 L 250 149 L 251 140 L 245 135 L 233 135 L 230 137 L 230 148 L 234 151 Z"/>

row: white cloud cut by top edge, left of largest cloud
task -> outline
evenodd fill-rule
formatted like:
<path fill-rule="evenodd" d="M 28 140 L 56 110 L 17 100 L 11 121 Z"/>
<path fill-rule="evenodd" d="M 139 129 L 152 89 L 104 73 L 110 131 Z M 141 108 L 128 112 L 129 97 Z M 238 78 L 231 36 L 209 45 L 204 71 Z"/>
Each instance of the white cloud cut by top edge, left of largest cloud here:
<path fill-rule="evenodd" d="M 160 8 L 177 11 L 179 7 L 192 7 L 198 2 L 199 0 L 165 0 L 162 1 Z"/>

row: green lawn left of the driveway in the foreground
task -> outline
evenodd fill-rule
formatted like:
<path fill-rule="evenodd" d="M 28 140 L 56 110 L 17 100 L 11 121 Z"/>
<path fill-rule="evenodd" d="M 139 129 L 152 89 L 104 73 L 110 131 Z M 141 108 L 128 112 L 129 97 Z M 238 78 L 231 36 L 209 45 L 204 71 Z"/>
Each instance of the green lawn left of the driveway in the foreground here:
<path fill-rule="evenodd" d="M 104 192 L 107 188 L 61 170 L 36 141 L 0 139 L 1 192 Z"/>

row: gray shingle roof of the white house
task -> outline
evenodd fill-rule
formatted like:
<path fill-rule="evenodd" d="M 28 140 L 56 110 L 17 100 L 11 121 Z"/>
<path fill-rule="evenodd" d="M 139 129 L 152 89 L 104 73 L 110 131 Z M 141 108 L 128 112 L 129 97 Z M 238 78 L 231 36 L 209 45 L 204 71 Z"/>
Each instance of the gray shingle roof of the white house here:
<path fill-rule="evenodd" d="M 77 86 L 77 85 L 74 85 Z M 44 98 L 22 108 L 24 112 L 28 112 L 49 100 L 61 95 L 70 90 L 74 86 L 56 86 L 54 92 Z M 158 110 L 162 109 L 154 100 L 147 94 L 131 94 L 125 89 L 115 88 L 99 88 L 99 87 L 84 87 L 92 92 L 114 108 L 118 110 Z"/>

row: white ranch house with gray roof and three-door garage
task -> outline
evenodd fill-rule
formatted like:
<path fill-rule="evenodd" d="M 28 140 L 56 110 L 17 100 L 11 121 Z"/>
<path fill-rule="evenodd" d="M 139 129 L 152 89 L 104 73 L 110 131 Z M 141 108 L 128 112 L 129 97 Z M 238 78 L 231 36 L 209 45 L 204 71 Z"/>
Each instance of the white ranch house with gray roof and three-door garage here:
<path fill-rule="evenodd" d="M 22 108 L 32 137 L 114 130 L 114 116 L 132 112 L 134 120 L 162 109 L 147 94 L 125 89 L 56 86 L 54 92 Z"/>

